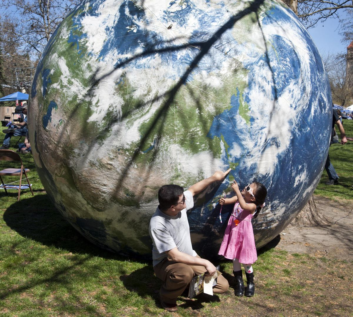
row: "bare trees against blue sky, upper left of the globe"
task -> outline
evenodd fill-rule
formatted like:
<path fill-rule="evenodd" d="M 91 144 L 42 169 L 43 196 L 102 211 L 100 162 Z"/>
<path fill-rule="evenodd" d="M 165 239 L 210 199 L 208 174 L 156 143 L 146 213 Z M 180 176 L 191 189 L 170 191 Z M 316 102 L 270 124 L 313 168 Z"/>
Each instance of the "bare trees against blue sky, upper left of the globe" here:
<path fill-rule="evenodd" d="M 8 94 L 31 85 L 37 60 L 55 28 L 79 0 L 2 0 L 0 85 Z"/>

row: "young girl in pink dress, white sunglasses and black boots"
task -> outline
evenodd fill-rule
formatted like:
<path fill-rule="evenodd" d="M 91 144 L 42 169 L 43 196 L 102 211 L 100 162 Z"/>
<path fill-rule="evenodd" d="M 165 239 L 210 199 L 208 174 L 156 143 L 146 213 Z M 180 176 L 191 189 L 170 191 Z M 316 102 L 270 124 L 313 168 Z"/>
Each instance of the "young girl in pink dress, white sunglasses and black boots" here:
<path fill-rule="evenodd" d="M 236 196 L 219 200 L 221 205 L 235 204 L 218 254 L 233 260 L 233 273 L 236 281 L 234 293 L 237 296 L 244 295 L 243 272 L 240 263 L 243 264 L 247 281 L 245 296 L 252 297 L 255 294 L 252 264 L 257 260 L 257 253 L 251 219 L 256 218 L 264 206 L 267 189 L 263 184 L 255 182 L 240 191 L 235 180 L 232 189 Z"/>

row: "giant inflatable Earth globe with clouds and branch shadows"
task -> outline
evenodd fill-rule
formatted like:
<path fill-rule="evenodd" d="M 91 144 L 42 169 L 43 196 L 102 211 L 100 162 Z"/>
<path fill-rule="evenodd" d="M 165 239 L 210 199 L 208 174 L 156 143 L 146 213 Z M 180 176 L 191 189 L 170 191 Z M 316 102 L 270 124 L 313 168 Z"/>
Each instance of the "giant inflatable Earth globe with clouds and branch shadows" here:
<path fill-rule="evenodd" d="M 211 256 L 234 179 L 268 189 L 257 248 L 303 208 L 327 157 L 331 104 L 317 48 L 280 1 L 84 0 L 38 63 L 30 139 L 72 226 L 140 258 L 151 257 L 160 186 L 187 189 L 231 167 L 188 211 L 194 249 Z"/>

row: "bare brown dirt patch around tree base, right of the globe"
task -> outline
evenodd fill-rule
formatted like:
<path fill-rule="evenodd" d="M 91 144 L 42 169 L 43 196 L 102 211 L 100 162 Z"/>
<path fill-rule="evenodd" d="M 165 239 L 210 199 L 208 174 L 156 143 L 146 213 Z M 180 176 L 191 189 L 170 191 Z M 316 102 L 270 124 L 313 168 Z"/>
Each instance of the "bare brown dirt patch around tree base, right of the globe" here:
<path fill-rule="evenodd" d="M 353 260 L 352 201 L 335 202 L 320 196 L 314 199 L 319 212 L 331 219 L 330 224 L 304 227 L 292 223 L 281 232 L 276 248 L 290 253 Z"/>

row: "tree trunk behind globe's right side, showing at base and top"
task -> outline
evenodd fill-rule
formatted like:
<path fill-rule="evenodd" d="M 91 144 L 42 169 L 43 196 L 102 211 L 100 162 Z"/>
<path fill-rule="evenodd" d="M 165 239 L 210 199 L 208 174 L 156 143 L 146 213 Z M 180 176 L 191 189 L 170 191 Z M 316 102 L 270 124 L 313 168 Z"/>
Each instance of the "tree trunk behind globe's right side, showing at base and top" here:
<path fill-rule="evenodd" d="M 292 11 L 298 15 L 298 0 L 282 0 Z M 307 204 L 292 221 L 293 224 L 302 226 L 317 226 L 329 224 L 329 220 L 322 215 L 316 207 L 314 196 L 311 196 Z"/>

